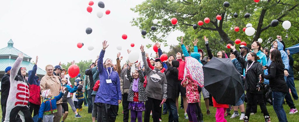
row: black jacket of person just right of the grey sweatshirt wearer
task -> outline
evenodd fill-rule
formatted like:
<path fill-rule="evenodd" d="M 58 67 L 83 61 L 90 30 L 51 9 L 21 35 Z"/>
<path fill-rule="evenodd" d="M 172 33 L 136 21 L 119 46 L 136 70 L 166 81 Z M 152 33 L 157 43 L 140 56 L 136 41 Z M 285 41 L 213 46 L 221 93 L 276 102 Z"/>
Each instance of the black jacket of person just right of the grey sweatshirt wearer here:
<path fill-rule="evenodd" d="M 176 101 L 177 91 L 178 91 L 178 77 L 179 77 L 179 61 L 173 60 L 171 62 L 166 62 L 167 70 L 165 71 L 165 76 L 167 80 L 167 99 L 172 99 Z"/>

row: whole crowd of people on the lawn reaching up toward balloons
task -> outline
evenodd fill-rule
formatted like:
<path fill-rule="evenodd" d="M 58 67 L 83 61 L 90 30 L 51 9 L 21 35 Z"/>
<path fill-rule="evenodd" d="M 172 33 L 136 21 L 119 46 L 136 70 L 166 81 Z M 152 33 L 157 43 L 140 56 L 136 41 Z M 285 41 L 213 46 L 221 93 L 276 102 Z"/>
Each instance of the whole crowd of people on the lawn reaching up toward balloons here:
<path fill-rule="evenodd" d="M 269 102 L 266 97 L 269 87 L 273 98 L 271 104 L 280 122 L 287 122 L 282 106 L 285 99 L 290 107 L 289 114 L 298 112 L 289 93 L 291 89 L 293 98 L 298 100 L 292 70 L 294 60 L 289 50 L 285 49 L 281 36 L 277 36 L 269 49 L 263 49 L 258 41 L 251 44 L 252 51 L 244 45 L 239 47 L 240 51 L 235 46 L 230 46 L 229 57 L 229 53 L 224 51 L 217 52 L 216 57 L 213 57 L 208 38 L 205 36 L 204 41 L 207 56 L 204 56 L 203 50 L 198 49 L 198 39 L 194 39 L 194 51 L 190 52 L 181 38 L 181 52 L 168 55 L 166 61 L 159 58 L 163 52 L 160 44 L 156 43 L 156 58 L 150 58 L 141 45 L 143 64 L 137 61 L 128 62 L 123 66 L 120 65 L 120 53 L 117 54 L 116 64 L 109 58 L 103 60 L 109 46 L 107 41 L 104 41 L 100 55 L 84 72 L 83 78 L 78 74 L 74 86 L 67 71 L 60 65 L 47 65 L 45 76 L 39 79 L 36 75 L 38 56 L 33 69 L 28 71 L 26 77 L 27 69 L 21 67 L 24 56 L 19 54 L 13 66 L 7 66 L 6 74 L 1 80 L 2 122 L 31 122 L 35 117 L 36 121 L 40 122 L 64 122 L 68 116 L 68 106 L 71 106 L 75 118 L 81 118 L 79 112 L 83 110 L 84 101 L 87 102 L 88 113 L 91 113 L 90 119 L 93 122 L 116 121 L 119 104 L 123 107 L 124 122 L 129 118 L 131 122 L 149 122 L 151 115 L 152 120 L 158 122 L 162 121 L 161 115 L 167 112 L 169 122 L 178 122 L 179 116 L 190 122 L 203 122 L 201 95 L 207 109 L 205 115 L 212 114 L 209 110 L 210 105 L 216 107 L 216 122 L 226 122 L 225 117 L 229 116 L 239 117 L 239 120 L 248 122 L 250 115 L 257 112 L 257 104 L 260 105 L 265 122 L 270 122 L 266 107 Z M 130 53 L 130 50 L 127 52 Z M 198 79 L 203 80 L 207 75 L 202 73 L 202 67 L 212 58 L 230 58 L 234 65 L 231 68 L 235 68 L 241 76 L 240 83 L 246 93 L 243 93 L 234 105 L 217 103 L 209 91 L 198 84 Z M 74 63 L 73 61 L 72 64 Z M 190 69 L 190 65 L 198 67 Z M 198 79 L 191 75 L 195 72 L 201 73 Z M 178 113 L 179 96 L 184 116 Z M 231 109 L 234 110 L 232 115 Z"/>

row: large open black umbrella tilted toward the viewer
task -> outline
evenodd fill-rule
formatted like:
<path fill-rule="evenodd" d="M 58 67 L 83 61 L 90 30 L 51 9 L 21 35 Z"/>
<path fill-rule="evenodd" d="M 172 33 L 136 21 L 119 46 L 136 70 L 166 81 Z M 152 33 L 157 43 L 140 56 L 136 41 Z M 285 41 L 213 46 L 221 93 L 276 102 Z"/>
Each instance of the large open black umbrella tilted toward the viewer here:
<path fill-rule="evenodd" d="M 203 67 L 204 86 L 218 104 L 235 105 L 244 93 L 241 74 L 230 58 L 213 57 Z"/>

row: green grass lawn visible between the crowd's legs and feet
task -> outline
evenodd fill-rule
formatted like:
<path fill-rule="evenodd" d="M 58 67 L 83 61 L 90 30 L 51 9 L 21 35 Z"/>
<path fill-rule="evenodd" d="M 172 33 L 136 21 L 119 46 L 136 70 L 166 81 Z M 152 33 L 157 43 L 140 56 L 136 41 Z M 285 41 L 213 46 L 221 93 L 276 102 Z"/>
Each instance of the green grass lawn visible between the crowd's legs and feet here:
<path fill-rule="evenodd" d="M 297 91 L 299 91 L 299 85 L 298 85 L 299 81 L 296 80 L 295 84 L 296 84 Z M 202 98 L 202 100 L 203 100 L 203 98 Z M 299 108 L 299 101 L 294 101 L 294 104 L 295 104 L 295 106 L 297 106 Z M 201 101 L 201 105 L 202 105 L 201 110 L 202 110 L 203 115 L 204 115 L 203 116 L 204 117 L 204 121 L 205 122 L 213 122 L 213 121 L 215 121 L 216 108 L 213 108 L 213 107 L 210 106 L 211 115 L 206 115 L 206 113 L 205 113 L 206 112 L 205 102 Z M 246 104 L 245 104 L 245 106 L 246 106 Z M 260 107 L 258 106 L 257 108 L 258 108 L 257 109 L 257 114 L 250 116 L 250 121 L 252 121 L 252 122 L 264 121 L 263 114 L 261 113 Z M 288 114 L 289 110 L 290 110 L 289 106 L 287 104 L 284 104 L 283 108 L 286 111 L 286 115 L 287 115 L 287 118 L 288 118 L 289 122 L 298 121 L 298 119 L 299 119 L 299 112 L 296 113 L 296 114 L 290 115 L 290 114 Z M 83 116 L 82 118 L 74 118 L 74 112 L 70 112 L 69 115 L 68 115 L 68 117 L 67 117 L 67 119 L 65 121 L 67 121 L 67 122 L 74 122 L 74 121 L 91 122 L 91 114 L 87 113 L 87 109 L 88 109 L 88 107 L 84 106 L 83 107 L 83 112 L 79 112 L 79 114 L 81 116 Z M 271 105 L 268 104 L 267 105 L 267 109 L 268 109 L 268 112 L 270 114 L 271 121 L 272 122 L 278 122 L 278 119 L 277 119 L 276 113 L 274 112 L 273 106 L 271 106 Z M 69 106 L 69 110 L 71 110 L 70 106 Z M 123 111 L 123 107 L 120 104 L 119 105 L 119 110 L 118 110 L 118 116 L 116 118 L 116 122 L 122 122 L 122 120 L 123 120 L 122 111 Z M 231 111 L 231 114 L 232 113 L 233 113 L 233 111 Z M 2 111 L 0 110 L 0 116 L 1 115 L 2 115 Z M 180 116 L 179 117 L 179 121 L 180 122 L 188 122 L 187 119 L 184 119 L 184 109 L 179 109 L 179 116 Z M 239 120 L 239 118 L 230 119 L 229 117 L 227 117 L 226 120 L 229 121 L 229 122 L 241 122 Z M 129 121 L 130 121 L 130 119 L 129 119 Z M 152 121 L 152 119 L 151 119 L 151 121 Z M 162 115 L 162 121 L 164 121 L 164 122 L 168 121 L 168 114 L 167 115 Z"/>

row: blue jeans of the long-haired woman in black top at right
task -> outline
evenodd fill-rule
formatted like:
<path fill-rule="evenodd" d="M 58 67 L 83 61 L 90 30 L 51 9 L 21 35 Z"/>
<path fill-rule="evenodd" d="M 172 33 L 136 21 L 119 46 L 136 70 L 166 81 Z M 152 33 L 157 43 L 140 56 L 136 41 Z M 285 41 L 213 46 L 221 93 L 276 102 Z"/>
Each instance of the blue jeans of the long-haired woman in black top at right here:
<path fill-rule="evenodd" d="M 273 97 L 273 109 L 277 115 L 277 118 L 280 122 L 287 122 L 286 112 L 283 109 L 283 100 L 286 94 L 282 92 L 272 92 Z"/>

